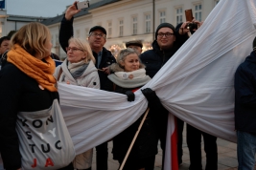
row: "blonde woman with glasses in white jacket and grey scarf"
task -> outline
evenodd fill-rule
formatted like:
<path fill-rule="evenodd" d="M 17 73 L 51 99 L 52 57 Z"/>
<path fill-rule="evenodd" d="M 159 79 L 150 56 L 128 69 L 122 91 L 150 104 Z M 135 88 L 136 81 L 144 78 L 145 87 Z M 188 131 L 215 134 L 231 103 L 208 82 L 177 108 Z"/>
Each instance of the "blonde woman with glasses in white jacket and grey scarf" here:
<path fill-rule="evenodd" d="M 66 48 L 67 58 L 57 67 L 55 77 L 59 83 L 100 89 L 100 78 L 94 63 L 91 48 L 86 40 L 70 38 Z M 76 169 L 91 169 L 93 150 L 76 156 L 73 165 Z"/>

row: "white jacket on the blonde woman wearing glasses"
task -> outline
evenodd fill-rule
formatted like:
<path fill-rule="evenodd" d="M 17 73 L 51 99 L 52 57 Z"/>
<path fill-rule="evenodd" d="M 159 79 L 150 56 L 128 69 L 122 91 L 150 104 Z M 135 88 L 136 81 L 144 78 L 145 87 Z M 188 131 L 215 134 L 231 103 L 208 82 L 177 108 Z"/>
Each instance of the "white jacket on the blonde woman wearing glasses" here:
<path fill-rule="evenodd" d="M 89 62 L 89 65 L 83 74 L 76 79 L 72 76 L 72 74 L 70 74 L 67 68 L 67 62 L 67 59 L 65 59 L 63 63 L 56 68 L 56 72 L 54 74 L 56 78 L 58 77 L 60 67 L 62 68 L 62 73 L 59 76 L 58 82 L 100 89 L 100 78 L 92 61 Z"/>

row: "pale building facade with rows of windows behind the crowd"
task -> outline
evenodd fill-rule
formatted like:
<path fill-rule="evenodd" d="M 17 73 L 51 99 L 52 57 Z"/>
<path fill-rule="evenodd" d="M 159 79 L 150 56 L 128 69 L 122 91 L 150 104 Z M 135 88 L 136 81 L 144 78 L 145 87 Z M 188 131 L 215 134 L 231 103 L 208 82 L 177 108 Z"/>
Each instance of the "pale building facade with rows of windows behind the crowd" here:
<path fill-rule="evenodd" d="M 107 32 L 105 48 L 125 48 L 130 40 L 142 40 L 144 50 L 151 49 L 154 31 L 163 22 L 176 26 L 185 21 L 185 10 L 192 9 L 198 21 L 206 19 L 220 0 L 91 0 L 90 7 L 75 15 L 74 37 L 87 38 L 91 27 L 99 25 Z M 42 23 L 52 32 L 53 52 L 61 57 L 58 31 L 63 15 Z"/>

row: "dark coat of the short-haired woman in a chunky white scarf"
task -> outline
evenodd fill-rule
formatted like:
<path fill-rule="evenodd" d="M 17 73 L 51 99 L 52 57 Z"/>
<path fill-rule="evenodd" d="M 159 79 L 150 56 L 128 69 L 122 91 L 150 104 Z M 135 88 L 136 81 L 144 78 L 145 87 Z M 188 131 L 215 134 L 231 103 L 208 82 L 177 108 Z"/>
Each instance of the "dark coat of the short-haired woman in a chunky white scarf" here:
<path fill-rule="evenodd" d="M 133 91 L 140 88 L 136 87 L 128 89 L 122 88 L 118 85 L 113 86 L 113 83 L 109 79 L 106 85 L 106 89 L 108 91 L 116 92 L 119 94 L 125 94 L 127 91 Z M 152 118 L 153 115 L 155 115 L 155 113 L 150 111 L 148 117 L 145 119 L 137 139 L 135 140 L 129 157 L 132 157 L 133 159 L 145 159 L 157 154 L 157 139 L 155 123 Z M 144 115 L 142 115 L 133 124 L 131 124 L 125 131 L 113 138 L 113 159 L 123 160 L 125 158 L 128 152 L 128 147 L 132 141 L 132 138 L 135 136 L 143 117 Z"/>

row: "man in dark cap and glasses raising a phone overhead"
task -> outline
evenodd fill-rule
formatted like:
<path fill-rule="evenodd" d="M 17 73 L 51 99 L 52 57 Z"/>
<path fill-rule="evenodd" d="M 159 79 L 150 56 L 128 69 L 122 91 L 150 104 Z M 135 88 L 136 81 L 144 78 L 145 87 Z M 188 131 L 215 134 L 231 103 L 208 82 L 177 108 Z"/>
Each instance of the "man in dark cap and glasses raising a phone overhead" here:
<path fill-rule="evenodd" d="M 68 47 L 68 40 L 73 36 L 73 20 L 74 15 L 81 10 L 76 8 L 77 1 L 70 6 L 60 24 L 59 30 L 59 43 L 61 48 L 66 52 L 66 47 Z M 105 82 L 107 80 L 106 67 L 115 63 L 115 57 L 108 50 L 105 49 L 105 38 L 106 32 L 105 28 L 101 26 L 92 27 L 89 31 L 88 42 L 92 49 L 93 55 L 96 59 L 96 68 L 99 70 L 98 74 L 100 76 L 101 89 L 105 90 Z M 107 170 L 107 142 L 96 146 L 96 166 L 97 170 Z"/>

